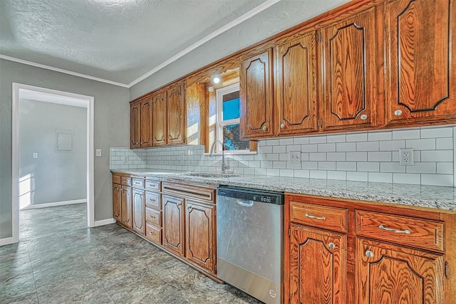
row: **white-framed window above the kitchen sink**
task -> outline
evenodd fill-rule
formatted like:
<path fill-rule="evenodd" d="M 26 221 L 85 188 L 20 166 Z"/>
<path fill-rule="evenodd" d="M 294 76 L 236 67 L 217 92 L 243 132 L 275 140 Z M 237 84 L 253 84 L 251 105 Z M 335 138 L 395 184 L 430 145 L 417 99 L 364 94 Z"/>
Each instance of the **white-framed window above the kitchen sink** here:
<path fill-rule="evenodd" d="M 249 140 L 241 140 L 239 137 L 239 83 L 217 89 L 216 98 L 216 139 L 223 142 L 225 152 L 233 154 L 249 152 Z"/>

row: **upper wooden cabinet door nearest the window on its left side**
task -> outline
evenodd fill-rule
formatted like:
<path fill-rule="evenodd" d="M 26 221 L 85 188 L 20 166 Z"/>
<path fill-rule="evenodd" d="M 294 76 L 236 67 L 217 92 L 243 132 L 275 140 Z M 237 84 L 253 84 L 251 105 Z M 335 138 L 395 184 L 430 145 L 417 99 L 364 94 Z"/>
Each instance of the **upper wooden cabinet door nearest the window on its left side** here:
<path fill-rule="evenodd" d="M 167 91 L 167 143 L 184 143 L 184 95 L 182 85 Z"/>

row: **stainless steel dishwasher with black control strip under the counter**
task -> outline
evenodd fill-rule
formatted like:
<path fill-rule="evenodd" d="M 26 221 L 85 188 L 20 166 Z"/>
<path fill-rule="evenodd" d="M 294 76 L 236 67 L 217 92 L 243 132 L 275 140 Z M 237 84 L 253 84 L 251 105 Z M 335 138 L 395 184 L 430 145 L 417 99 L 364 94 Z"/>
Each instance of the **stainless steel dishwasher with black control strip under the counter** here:
<path fill-rule="evenodd" d="M 217 273 L 268 304 L 281 303 L 284 194 L 217 189 Z"/>

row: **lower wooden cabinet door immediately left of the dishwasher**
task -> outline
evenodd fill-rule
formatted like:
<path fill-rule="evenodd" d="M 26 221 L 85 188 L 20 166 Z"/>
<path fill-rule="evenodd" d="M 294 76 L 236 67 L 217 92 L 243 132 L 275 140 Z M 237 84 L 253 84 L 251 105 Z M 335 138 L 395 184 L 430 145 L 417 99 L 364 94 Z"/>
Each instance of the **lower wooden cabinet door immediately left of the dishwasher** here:
<path fill-rule="evenodd" d="M 215 205 L 185 201 L 185 256 L 215 273 Z"/>

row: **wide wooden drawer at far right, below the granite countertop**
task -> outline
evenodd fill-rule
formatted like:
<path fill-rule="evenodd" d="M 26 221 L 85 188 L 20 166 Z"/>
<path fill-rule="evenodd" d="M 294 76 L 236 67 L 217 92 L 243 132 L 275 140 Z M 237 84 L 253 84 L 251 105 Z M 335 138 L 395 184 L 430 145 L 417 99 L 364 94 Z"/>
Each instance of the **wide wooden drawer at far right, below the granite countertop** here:
<path fill-rule="evenodd" d="M 443 229 L 440 221 L 356 211 L 356 234 L 371 239 L 443 251 Z"/>

